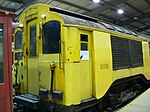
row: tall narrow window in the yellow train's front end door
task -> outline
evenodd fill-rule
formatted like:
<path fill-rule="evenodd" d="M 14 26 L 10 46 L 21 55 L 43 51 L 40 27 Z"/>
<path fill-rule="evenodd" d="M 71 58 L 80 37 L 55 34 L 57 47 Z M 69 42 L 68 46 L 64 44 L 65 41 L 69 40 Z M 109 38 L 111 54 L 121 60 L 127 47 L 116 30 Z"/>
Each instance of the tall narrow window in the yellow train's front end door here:
<path fill-rule="evenodd" d="M 30 27 L 30 56 L 36 56 L 36 26 Z"/>

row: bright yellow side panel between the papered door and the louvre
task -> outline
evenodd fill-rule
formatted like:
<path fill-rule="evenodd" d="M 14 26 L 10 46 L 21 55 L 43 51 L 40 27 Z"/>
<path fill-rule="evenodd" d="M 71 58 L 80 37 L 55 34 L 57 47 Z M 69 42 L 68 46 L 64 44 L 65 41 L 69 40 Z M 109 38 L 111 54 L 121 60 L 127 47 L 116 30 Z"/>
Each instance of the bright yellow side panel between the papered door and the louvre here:
<path fill-rule="evenodd" d="M 96 98 L 105 95 L 112 84 L 112 54 L 110 34 L 94 31 L 94 74 L 93 93 Z"/>

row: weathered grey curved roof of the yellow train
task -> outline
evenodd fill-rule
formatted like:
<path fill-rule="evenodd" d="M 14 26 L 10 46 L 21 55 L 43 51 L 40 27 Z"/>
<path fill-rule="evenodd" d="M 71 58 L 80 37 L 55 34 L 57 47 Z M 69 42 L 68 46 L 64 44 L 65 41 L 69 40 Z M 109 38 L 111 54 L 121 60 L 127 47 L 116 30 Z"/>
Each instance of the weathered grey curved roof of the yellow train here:
<path fill-rule="evenodd" d="M 126 29 L 124 27 L 121 27 L 121 26 L 116 26 L 116 25 L 108 24 L 108 23 L 104 23 L 104 22 L 93 22 L 93 21 L 84 20 L 84 19 L 72 17 L 72 16 L 65 15 L 65 14 L 60 14 L 60 15 L 63 18 L 65 24 L 87 26 L 87 27 L 105 30 L 105 31 L 112 32 L 112 33 L 130 35 L 130 36 L 133 36 L 135 38 L 150 41 L 149 36 L 140 34 L 138 32 L 133 32 L 133 31 Z"/>

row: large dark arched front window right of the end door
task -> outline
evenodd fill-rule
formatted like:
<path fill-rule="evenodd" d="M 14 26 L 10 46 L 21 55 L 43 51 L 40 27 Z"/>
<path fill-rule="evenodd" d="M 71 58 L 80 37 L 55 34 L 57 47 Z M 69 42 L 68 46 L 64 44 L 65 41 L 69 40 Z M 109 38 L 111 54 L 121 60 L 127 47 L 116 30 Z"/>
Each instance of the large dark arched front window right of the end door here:
<path fill-rule="evenodd" d="M 60 53 L 60 40 L 61 40 L 61 26 L 60 22 L 53 20 L 46 22 L 43 25 L 43 54 L 56 54 Z"/>

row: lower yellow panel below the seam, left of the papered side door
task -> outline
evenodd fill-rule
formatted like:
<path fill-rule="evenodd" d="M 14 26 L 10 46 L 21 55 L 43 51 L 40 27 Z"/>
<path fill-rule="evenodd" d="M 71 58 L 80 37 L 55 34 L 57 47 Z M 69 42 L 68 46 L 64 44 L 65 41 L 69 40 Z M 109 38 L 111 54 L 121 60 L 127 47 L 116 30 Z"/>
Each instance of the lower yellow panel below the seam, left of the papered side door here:
<path fill-rule="evenodd" d="M 80 64 L 65 63 L 65 104 L 80 104 L 81 84 L 80 84 Z"/>

